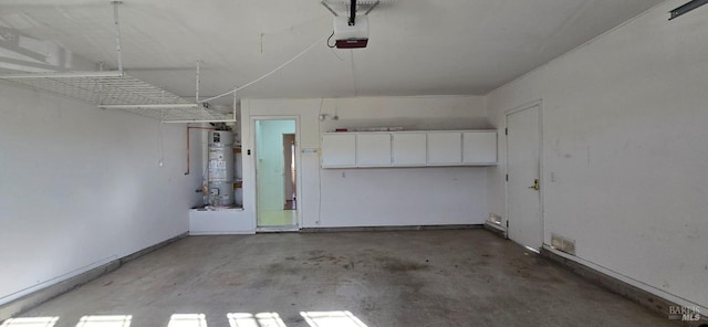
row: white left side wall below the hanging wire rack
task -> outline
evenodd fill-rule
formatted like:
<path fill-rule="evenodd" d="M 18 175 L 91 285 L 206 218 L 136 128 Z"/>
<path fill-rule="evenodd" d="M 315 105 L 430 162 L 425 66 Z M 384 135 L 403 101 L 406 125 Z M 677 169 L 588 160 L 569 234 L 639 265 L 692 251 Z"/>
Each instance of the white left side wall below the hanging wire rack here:
<path fill-rule="evenodd" d="M 6 84 L 0 117 L 0 304 L 187 232 L 184 125 L 159 167 L 157 120 Z"/>

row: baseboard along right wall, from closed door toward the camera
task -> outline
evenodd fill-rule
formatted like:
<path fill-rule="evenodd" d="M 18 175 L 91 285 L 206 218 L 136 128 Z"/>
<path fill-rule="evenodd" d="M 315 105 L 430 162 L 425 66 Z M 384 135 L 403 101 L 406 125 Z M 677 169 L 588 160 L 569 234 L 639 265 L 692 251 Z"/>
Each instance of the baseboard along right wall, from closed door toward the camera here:
<path fill-rule="evenodd" d="M 680 307 L 680 305 L 668 300 L 666 298 L 663 298 L 656 294 L 653 294 L 650 292 L 647 292 L 645 289 L 642 289 L 639 287 L 636 287 L 634 285 L 631 285 L 624 281 L 617 279 L 613 276 L 610 276 L 603 272 L 596 271 L 587 265 L 584 265 L 580 262 L 570 260 L 568 257 L 561 256 L 556 253 L 554 253 L 553 251 L 550 251 L 545 247 L 541 249 L 541 256 L 549 259 L 550 261 L 560 264 L 561 266 L 570 270 L 571 272 L 591 281 L 594 282 L 596 284 L 598 284 L 600 286 L 602 286 L 603 288 L 622 295 L 623 297 L 635 302 L 650 310 L 653 310 L 654 313 L 656 313 L 657 315 L 660 315 L 663 317 L 666 317 L 668 319 L 668 315 L 669 315 L 669 308 L 670 307 Z M 704 327 L 706 326 L 705 324 L 708 324 L 708 313 L 700 313 L 700 320 L 698 321 L 681 321 L 681 320 L 676 320 L 676 323 L 678 324 L 683 324 L 681 326 L 696 326 L 696 327 Z"/>

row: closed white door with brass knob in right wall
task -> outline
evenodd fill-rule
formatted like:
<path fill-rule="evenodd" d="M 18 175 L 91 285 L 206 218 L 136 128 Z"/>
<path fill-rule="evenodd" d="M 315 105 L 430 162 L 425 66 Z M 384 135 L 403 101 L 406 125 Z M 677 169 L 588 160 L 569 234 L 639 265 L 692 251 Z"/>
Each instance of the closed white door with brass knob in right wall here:
<path fill-rule="evenodd" d="M 540 118 L 538 105 L 507 115 L 508 233 L 537 250 L 543 245 Z"/>

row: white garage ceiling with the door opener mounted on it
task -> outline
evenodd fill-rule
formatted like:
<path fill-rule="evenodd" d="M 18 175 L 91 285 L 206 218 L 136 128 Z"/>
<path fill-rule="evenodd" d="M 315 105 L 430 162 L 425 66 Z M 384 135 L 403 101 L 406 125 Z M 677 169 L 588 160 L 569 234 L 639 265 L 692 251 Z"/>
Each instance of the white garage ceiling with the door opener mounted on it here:
<path fill-rule="evenodd" d="M 368 48 L 357 50 L 326 46 L 333 18 L 319 0 L 124 0 L 119 23 L 125 70 L 186 97 L 197 60 L 209 96 L 317 40 L 239 97 L 482 95 L 662 1 L 395 0 L 369 14 Z M 35 67 L 85 68 L 76 55 L 117 65 L 108 0 L 0 0 L 0 8 L 4 67 L 28 55 Z"/>

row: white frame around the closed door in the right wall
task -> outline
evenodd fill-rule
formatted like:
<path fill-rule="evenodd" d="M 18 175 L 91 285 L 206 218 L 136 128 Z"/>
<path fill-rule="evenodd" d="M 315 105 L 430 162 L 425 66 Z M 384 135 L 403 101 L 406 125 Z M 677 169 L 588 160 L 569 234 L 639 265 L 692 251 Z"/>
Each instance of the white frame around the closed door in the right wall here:
<path fill-rule="evenodd" d="M 543 247 L 543 245 L 545 244 L 545 201 L 544 201 L 544 193 L 545 193 L 545 179 L 543 178 L 543 166 L 544 166 L 544 156 L 543 156 L 543 101 L 542 99 L 537 99 L 530 103 L 525 103 L 523 105 L 513 107 L 511 109 L 508 109 L 504 112 L 504 130 L 507 130 L 507 128 L 509 128 L 509 116 L 533 108 L 533 107 L 539 107 L 539 179 L 541 180 L 541 189 L 539 190 L 540 194 L 539 194 L 539 201 L 541 202 L 541 247 Z M 504 176 L 509 176 L 509 135 L 507 133 L 504 133 Z M 506 238 L 509 238 L 509 180 L 507 178 L 504 178 L 504 211 L 507 212 L 507 217 L 504 218 L 506 220 Z M 538 252 L 537 249 L 534 251 Z"/>

